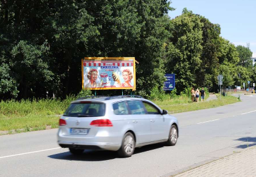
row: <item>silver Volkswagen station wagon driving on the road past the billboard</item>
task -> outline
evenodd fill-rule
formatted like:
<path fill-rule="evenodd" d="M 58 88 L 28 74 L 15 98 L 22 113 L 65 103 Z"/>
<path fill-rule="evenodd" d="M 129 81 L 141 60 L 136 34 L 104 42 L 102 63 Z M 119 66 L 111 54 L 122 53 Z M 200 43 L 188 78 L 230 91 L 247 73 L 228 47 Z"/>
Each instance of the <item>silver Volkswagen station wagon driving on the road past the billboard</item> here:
<path fill-rule="evenodd" d="M 60 118 L 58 144 L 74 155 L 85 149 L 133 155 L 136 147 L 166 142 L 175 145 L 178 121 L 153 102 L 140 96 L 81 98 Z"/>

